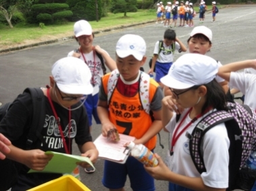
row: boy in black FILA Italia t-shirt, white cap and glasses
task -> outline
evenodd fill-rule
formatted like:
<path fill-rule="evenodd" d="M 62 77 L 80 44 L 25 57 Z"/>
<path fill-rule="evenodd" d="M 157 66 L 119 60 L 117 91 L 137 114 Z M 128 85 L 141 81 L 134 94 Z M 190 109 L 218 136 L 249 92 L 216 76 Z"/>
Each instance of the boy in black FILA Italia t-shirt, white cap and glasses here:
<path fill-rule="evenodd" d="M 32 173 L 29 169 L 41 171 L 45 168 L 53 155 L 46 155 L 45 151 L 58 153 L 72 153 L 72 142 L 75 139 L 82 156 L 89 157 L 93 163 L 97 160 L 98 151 L 92 142 L 88 125 L 88 117 L 83 107 L 86 95 L 93 92 L 91 85 L 91 71 L 80 59 L 66 57 L 57 61 L 49 77 L 50 86 L 38 91 L 42 94 L 41 110 L 33 110 L 33 98 L 30 93 L 18 95 L 1 120 L 0 132 L 10 141 L 10 153 L 7 159 L 17 161 L 18 180 L 11 190 L 28 190 L 59 178 L 62 174 Z M 40 98 L 40 97 L 39 97 Z M 41 112 L 43 126 L 36 134 L 36 141 L 31 149 L 26 148 L 28 128 L 32 123 L 33 113 Z M 30 127 L 31 128 L 31 127 Z M 80 163 L 82 167 L 87 163 Z M 3 171 L 1 171 L 1 174 Z M 68 173 L 68 172 L 67 172 Z M 1 185 L 2 187 L 2 185 Z"/>

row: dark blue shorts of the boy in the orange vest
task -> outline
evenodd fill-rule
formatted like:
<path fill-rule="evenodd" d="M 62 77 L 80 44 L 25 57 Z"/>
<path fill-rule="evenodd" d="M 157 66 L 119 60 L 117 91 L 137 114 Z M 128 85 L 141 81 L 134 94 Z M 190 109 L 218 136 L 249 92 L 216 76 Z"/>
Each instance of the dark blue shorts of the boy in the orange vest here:
<path fill-rule="evenodd" d="M 109 189 L 123 188 L 127 175 L 130 178 L 132 190 L 155 190 L 153 177 L 145 171 L 143 163 L 134 157 L 128 157 L 124 164 L 105 161 L 102 184 Z"/>

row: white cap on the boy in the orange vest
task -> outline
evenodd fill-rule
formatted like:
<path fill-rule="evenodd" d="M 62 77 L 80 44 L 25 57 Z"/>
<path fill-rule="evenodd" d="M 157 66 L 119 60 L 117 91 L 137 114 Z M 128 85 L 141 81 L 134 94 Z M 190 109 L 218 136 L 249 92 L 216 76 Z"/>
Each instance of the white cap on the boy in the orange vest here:
<path fill-rule="evenodd" d="M 143 56 L 146 54 L 146 48 L 146 42 L 141 36 L 126 34 L 118 40 L 116 54 L 120 58 L 132 55 L 138 61 L 142 61 Z"/>

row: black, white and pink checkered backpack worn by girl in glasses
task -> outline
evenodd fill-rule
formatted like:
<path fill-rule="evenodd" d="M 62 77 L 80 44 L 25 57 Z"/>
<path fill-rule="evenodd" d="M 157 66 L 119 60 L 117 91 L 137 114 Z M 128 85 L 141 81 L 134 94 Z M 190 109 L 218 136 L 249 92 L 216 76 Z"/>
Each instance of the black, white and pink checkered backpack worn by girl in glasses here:
<path fill-rule="evenodd" d="M 256 113 L 247 105 L 228 102 L 227 106 L 228 111 L 208 114 L 198 122 L 191 135 L 186 133 L 190 156 L 200 174 L 206 171 L 202 153 L 203 136 L 208 130 L 224 122 L 230 140 L 227 190 L 251 190 L 256 180 L 256 170 L 245 167 L 245 161 L 251 151 L 256 149 Z M 179 120 L 178 116 L 176 122 Z"/>

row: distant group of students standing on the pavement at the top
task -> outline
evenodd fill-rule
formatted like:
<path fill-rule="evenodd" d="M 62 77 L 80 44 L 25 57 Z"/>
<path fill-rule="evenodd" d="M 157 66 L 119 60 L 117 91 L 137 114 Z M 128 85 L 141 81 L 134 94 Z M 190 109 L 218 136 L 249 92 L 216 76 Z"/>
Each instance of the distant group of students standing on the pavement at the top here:
<path fill-rule="evenodd" d="M 215 22 L 215 15 L 217 13 L 217 8 L 215 6 L 216 2 L 213 1 L 212 5 L 212 22 Z M 203 20 L 205 19 L 205 11 L 207 11 L 207 5 L 205 5 L 205 1 L 201 1 L 199 6 L 199 24 L 203 24 Z M 164 20 L 165 15 L 165 21 Z M 171 16 L 172 15 L 172 16 Z M 174 23 L 174 28 L 176 28 L 176 23 L 178 18 L 180 18 L 180 24 L 178 27 L 194 27 L 193 18 L 197 15 L 193 3 L 189 1 L 180 1 L 179 2 L 174 0 L 173 4 L 171 2 L 167 2 L 167 5 L 164 7 L 162 2 L 157 3 L 157 22 L 163 23 L 163 27 L 170 27 L 172 28 L 172 23 Z M 172 20 L 171 20 L 172 18 Z M 170 22 L 171 20 L 171 22 Z"/>

